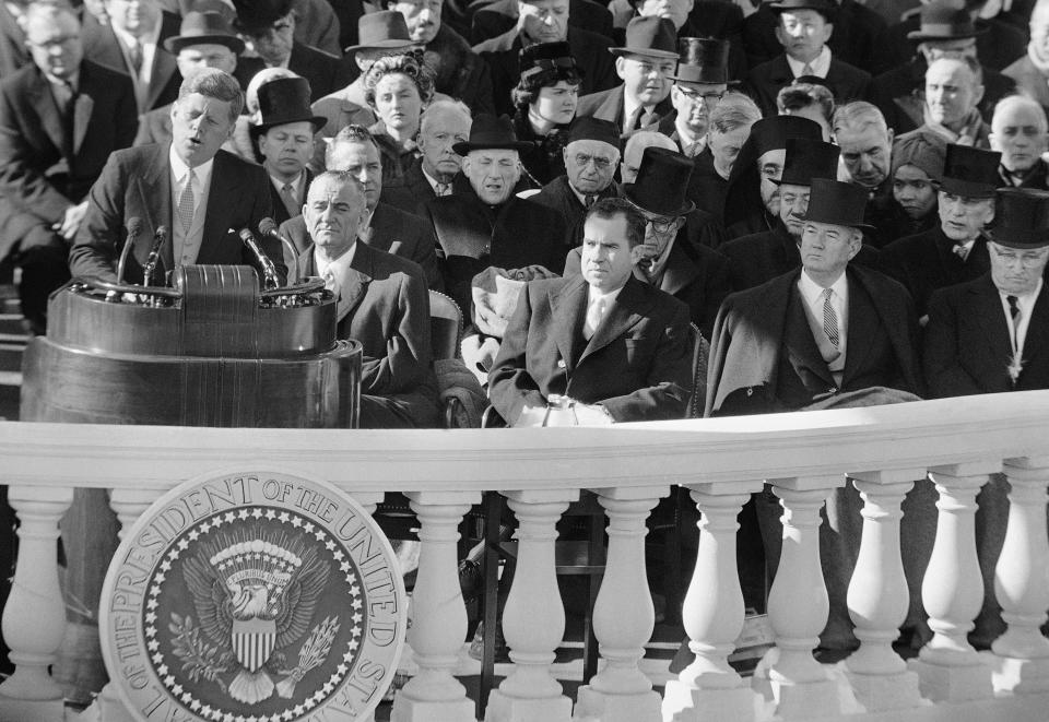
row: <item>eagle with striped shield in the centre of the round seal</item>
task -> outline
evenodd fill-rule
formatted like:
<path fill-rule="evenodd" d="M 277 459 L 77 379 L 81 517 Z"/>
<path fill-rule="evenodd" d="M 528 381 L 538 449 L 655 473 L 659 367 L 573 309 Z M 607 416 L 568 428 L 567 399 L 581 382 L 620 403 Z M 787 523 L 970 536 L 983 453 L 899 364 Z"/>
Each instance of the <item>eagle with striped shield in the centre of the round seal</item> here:
<path fill-rule="evenodd" d="M 309 630 L 330 565 L 298 540 L 246 531 L 202 544 L 182 577 L 200 629 L 239 666 L 227 694 L 256 705 L 274 691 L 290 697 L 302 679 L 283 670 L 283 650 Z M 274 683 L 273 674 L 291 676 Z"/>

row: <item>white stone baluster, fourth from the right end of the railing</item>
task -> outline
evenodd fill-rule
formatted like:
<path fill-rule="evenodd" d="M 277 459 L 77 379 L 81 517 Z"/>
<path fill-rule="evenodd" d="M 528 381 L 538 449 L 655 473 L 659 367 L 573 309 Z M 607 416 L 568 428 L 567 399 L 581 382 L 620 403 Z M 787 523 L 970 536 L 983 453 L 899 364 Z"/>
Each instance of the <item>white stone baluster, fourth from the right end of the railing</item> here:
<path fill-rule="evenodd" d="M 769 480 L 783 507 L 783 549 L 768 595 L 776 648 L 766 655 L 776 712 L 783 719 L 836 714 L 837 685 L 812 651 L 830 601 L 820 565 L 820 508 L 845 475 Z M 804 600 L 804 603 L 801 603 Z"/>

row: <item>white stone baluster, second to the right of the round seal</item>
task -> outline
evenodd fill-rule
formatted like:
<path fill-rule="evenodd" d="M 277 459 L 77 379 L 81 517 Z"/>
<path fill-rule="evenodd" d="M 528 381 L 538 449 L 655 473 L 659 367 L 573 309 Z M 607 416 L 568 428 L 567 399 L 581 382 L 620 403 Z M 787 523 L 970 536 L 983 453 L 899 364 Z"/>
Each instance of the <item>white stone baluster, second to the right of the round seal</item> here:
<path fill-rule="evenodd" d="M 507 492 L 517 516 L 518 555 L 514 584 L 503 611 L 503 636 L 514 672 L 492 693 L 485 722 L 567 722 L 571 700 L 550 673 L 565 635 L 565 607 L 554 569 L 554 528 L 579 489 Z"/>

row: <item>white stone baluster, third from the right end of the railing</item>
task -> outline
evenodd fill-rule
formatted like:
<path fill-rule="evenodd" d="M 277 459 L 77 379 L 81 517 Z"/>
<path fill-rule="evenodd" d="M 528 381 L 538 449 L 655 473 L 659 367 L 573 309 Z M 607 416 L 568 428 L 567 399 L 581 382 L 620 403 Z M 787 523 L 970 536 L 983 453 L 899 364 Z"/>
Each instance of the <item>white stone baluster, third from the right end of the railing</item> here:
<path fill-rule="evenodd" d="M 918 675 L 893 651 L 910 595 L 899 548 L 900 505 L 924 477 L 923 469 L 852 474 L 863 499 L 863 537 L 849 581 L 849 616 L 860 648 L 845 662 L 857 699 L 869 711 L 898 710 L 921 703 Z"/>

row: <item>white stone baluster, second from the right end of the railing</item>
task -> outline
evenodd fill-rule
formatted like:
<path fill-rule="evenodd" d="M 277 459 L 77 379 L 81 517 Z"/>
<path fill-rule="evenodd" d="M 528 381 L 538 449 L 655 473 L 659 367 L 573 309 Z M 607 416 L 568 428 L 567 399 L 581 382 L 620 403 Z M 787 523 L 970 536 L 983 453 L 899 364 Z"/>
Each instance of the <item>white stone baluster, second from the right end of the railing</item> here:
<path fill-rule="evenodd" d="M 991 668 L 966 639 L 983 604 L 976 554 L 976 495 L 1001 463 L 966 463 L 930 470 L 940 510 L 932 557 L 921 581 L 921 601 L 933 637 L 910 668 L 921 694 L 933 701 L 965 701 L 993 695 Z"/>

